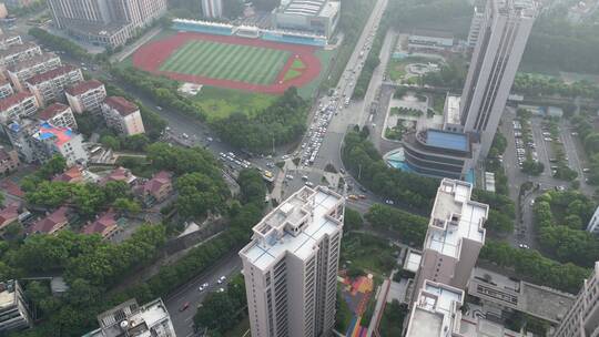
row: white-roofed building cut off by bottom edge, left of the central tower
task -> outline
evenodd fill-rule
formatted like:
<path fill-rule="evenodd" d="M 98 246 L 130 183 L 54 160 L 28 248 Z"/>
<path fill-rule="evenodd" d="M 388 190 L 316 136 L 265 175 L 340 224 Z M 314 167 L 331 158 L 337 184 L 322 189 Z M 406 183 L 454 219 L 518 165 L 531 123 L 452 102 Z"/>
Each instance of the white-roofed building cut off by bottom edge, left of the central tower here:
<path fill-rule="evenodd" d="M 161 298 L 140 306 L 129 299 L 98 315 L 100 328 L 83 337 L 176 337 L 171 315 Z"/>

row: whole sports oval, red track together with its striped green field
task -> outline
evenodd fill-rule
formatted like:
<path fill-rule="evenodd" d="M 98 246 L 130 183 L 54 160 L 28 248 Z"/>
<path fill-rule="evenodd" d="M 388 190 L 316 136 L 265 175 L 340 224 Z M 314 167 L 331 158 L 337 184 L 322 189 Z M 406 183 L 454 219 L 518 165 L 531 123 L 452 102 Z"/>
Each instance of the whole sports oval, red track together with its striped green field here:
<path fill-rule="evenodd" d="M 179 32 L 142 45 L 133 67 L 176 81 L 281 94 L 318 79 L 317 48 Z"/>

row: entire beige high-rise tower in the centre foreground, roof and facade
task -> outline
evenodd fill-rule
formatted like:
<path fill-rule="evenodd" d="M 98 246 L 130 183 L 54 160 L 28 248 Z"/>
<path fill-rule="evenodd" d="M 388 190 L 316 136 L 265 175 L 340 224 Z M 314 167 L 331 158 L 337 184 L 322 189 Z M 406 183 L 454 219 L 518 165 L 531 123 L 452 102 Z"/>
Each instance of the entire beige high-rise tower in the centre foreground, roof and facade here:
<path fill-rule="evenodd" d="M 240 252 L 253 337 L 331 331 L 344 206 L 335 192 L 304 186 L 254 226 Z"/>

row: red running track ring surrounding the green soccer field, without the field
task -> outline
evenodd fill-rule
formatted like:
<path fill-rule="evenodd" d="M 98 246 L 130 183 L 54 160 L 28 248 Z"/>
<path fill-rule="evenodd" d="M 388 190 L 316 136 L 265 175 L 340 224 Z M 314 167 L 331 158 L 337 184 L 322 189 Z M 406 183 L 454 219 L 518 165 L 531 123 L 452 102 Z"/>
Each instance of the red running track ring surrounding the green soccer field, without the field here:
<path fill-rule="evenodd" d="M 232 80 L 219 80 L 213 78 L 206 78 L 202 75 L 191 75 L 171 71 L 161 71 L 160 67 L 171 57 L 171 54 L 183 47 L 186 42 L 191 40 L 207 40 L 215 41 L 221 43 L 231 43 L 231 44 L 244 44 L 252 47 L 262 47 L 271 48 L 277 50 L 285 50 L 293 53 L 283 70 L 276 76 L 275 83 L 272 84 L 254 84 Z M 314 54 L 316 50 L 315 47 L 309 45 L 297 45 L 297 44 L 287 44 L 287 43 L 276 43 L 264 41 L 260 39 L 246 39 L 238 37 L 223 37 L 223 35 L 211 35 L 203 33 L 192 33 L 192 32 L 180 32 L 175 35 L 149 42 L 142 45 L 140 49 L 133 53 L 133 65 L 141 70 L 165 75 L 176 81 L 191 82 L 204 85 L 222 86 L 230 88 L 243 91 L 261 92 L 261 93 L 271 93 L 271 94 L 281 94 L 291 86 L 301 88 L 312 82 L 321 74 L 321 60 Z M 300 58 L 304 64 L 305 69 L 302 69 L 302 75 L 283 82 L 285 73 L 291 69 L 293 60 Z"/>

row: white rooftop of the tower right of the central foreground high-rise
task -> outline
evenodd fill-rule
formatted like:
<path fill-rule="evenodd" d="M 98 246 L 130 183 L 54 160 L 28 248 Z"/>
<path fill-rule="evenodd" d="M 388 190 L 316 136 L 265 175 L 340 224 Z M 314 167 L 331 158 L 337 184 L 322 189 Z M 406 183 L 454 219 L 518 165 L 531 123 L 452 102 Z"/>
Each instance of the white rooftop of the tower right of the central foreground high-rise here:
<path fill-rule="evenodd" d="M 465 238 L 485 243 L 484 222 L 489 206 L 470 201 L 473 185 L 444 178 L 430 214 L 425 248 L 458 257 Z"/>

